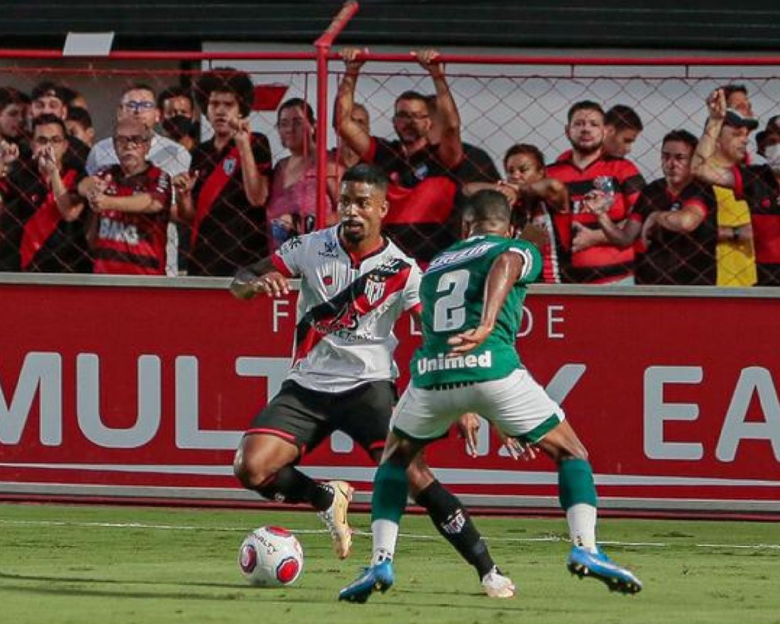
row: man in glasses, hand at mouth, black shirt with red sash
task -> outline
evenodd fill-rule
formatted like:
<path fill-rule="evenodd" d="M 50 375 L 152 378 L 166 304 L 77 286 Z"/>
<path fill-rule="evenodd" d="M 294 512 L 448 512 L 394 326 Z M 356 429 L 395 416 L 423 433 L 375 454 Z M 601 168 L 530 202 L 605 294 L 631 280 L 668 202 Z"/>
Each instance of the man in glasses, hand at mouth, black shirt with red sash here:
<path fill-rule="evenodd" d="M 0 270 L 88 273 L 83 169 L 66 161 L 65 122 L 51 113 L 33 121 L 32 153 L 9 174 L 0 212 Z"/>

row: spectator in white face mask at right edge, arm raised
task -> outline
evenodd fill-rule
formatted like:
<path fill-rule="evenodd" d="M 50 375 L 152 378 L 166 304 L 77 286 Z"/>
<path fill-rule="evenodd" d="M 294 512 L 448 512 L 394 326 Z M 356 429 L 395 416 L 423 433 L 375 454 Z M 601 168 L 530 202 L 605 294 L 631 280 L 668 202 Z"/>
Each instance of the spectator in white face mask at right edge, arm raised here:
<path fill-rule="evenodd" d="M 760 149 L 766 165 L 745 165 L 737 160 L 730 165 L 714 158 L 722 134 L 733 118 L 725 93 L 716 89 L 707 98 L 709 117 L 693 158 L 693 172 L 710 184 L 734 190 L 734 196 L 750 206 L 750 230 L 756 258 L 757 285 L 780 285 L 780 130 L 768 125 L 761 137 Z M 746 138 L 743 142 L 746 144 Z M 746 147 L 743 145 L 743 151 Z M 741 235 L 738 232 L 735 237 Z"/>

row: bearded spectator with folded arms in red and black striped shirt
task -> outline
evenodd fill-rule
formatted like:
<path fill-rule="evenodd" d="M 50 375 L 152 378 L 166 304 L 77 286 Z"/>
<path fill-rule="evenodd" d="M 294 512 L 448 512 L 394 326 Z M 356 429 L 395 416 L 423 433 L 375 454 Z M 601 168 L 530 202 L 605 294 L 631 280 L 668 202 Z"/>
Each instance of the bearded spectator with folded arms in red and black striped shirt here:
<path fill-rule="evenodd" d="M 566 184 L 571 213 L 555 215 L 561 243 L 569 251 L 562 262 L 566 282 L 633 283 L 633 240 L 622 229 L 644 179 L 624 158 L 604 153 L 605 114 L 600 105 L 580 101 L 569 108 L 566 137 L 572 149 L 548 167 L 548 176 Z M 605 201 L 596 201 L 603 194 Z"/>

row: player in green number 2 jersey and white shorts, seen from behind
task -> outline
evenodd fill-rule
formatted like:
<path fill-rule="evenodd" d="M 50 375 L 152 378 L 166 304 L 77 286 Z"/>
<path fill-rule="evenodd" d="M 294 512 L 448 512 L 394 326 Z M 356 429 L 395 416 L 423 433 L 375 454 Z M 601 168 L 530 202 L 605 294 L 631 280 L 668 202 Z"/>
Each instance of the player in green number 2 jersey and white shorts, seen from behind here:
<path fill-rule="evenodd" d="M 573 542 L 568 562 L 573 574 L 626 594 L 642 587 L 597 548 L 596 489 L 587 451 L 560 406 L 519 361 L 515 340 L 523 300 L 541 271 L 541 254 L 528 241 L 511 238 L 510 218 L 502 193 L 475 193 L 464 211 L 465 240 L 434 257 L 422 278 L 423 344 L 412 359 L 412 381 L 395 408 L 374 477 L 374 556 L 339 600 L 365 602 L 392 586 L 406 466 L 463 412 L 479 413 L 505 435 L 555 460 Z"/>

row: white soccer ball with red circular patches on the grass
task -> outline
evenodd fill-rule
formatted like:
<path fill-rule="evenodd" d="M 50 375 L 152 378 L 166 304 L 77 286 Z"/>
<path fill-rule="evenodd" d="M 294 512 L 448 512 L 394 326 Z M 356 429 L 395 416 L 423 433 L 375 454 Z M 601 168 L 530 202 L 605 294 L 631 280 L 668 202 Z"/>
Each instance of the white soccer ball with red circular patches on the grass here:
<path fill-rule="evenodd" d="M 303 572 L 303 548 L 281 527 L 260 527 L 246 536 L 239 550 L 239 569 L 250 585 L 282 587 Z"/>

